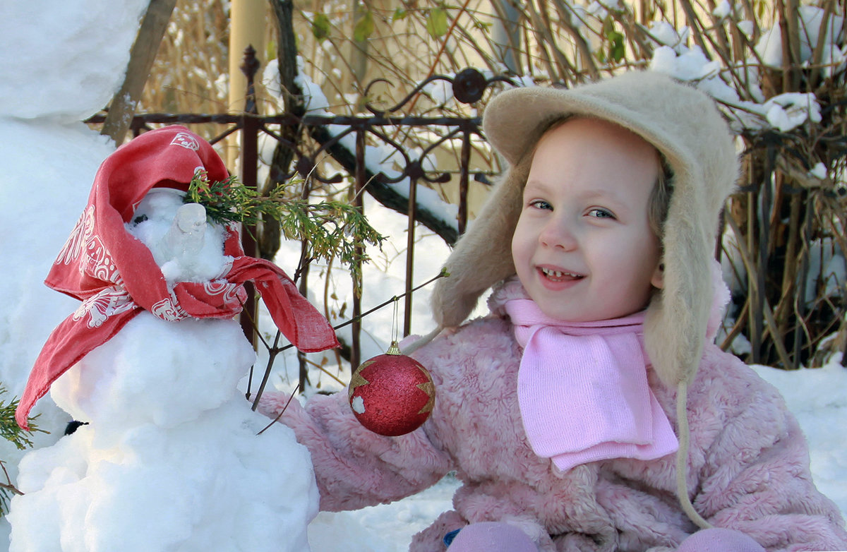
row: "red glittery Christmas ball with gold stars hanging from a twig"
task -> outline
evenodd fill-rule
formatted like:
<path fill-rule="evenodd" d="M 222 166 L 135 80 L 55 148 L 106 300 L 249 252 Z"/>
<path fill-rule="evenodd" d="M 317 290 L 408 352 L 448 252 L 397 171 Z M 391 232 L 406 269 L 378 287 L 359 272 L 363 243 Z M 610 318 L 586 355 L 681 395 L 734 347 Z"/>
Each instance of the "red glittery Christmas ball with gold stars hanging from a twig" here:
<path fill-rule="evenodd" d="M 385 355 L 356 368 L 347 396 L 365 428 L 396 437 L 414 431 L 429 417 L 435 406 L 435 384 L 427 369 L 402 355 L 394 341 Z"/>

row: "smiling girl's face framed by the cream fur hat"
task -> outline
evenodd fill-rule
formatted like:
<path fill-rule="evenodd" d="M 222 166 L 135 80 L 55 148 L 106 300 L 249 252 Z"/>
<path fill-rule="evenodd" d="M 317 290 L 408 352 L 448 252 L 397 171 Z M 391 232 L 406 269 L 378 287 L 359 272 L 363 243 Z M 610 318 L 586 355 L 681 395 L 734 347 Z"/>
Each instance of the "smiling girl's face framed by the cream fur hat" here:
<path fill-rule="evenodd" d="M 623 317 L 662 287 L 650 229 L 656 149 L 598 119 L 541 137 L 512 237 L 518 278 L 542 312 L 567 322 Z"/>

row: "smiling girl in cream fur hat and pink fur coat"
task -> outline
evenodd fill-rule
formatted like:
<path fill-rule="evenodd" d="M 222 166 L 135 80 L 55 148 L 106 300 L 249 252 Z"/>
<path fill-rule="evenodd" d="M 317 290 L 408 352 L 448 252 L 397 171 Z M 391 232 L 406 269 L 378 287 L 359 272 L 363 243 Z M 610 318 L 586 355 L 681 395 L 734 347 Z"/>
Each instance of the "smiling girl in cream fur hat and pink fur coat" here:
<path fill-rule="evenodd" d="M 437 389 L 429 420 L 369 433 L 346 393 L 281 418 L 321 508 L 453 471 L 453 510 L 415 552 L 847 549 L 782 397 L 714 344 L 728 292 L 711 255 L 738 163 L 711 99 L 635 72 L 503 92 L 484 131 L 507 172 L 436 284 L 437 335 L 412 345 Z"/>

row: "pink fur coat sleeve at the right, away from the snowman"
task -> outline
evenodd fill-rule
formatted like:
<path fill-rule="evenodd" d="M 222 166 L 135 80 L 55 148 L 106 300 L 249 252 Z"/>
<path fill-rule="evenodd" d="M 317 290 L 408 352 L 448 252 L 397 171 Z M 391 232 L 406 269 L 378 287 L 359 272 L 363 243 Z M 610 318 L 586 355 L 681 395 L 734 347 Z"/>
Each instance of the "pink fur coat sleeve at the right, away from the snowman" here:
<path fill-rule="evenodd" d="M 710 345 L 688 410 L 689 493 L 709 522 L 769 551 L 847 549 L 844 521 L 812 482 L 805 436 L 777 389 Z"/>

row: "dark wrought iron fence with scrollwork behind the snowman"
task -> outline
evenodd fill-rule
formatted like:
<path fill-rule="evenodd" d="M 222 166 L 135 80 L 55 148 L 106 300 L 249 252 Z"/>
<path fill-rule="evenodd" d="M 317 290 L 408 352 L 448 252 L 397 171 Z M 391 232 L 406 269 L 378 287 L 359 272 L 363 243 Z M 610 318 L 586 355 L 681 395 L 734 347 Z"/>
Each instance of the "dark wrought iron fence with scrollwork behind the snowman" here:
<path fill-rule="evenodd" d="M 473 141 L 484 140 L 479 125 L 479 117 L 462 116 L 410 116 L 401 114 L 407 108 L 412 98 L 416 97 L 424 86 L 434 81 L 442 80 L 452 87 L 452 95 L 462 104 L 473 104 L 479 102 L 485 92 L 494 83 L 505 82 L 513 85 L 506 77 L 496 76 L 486 78 L 476 69 L 465 69 L 453 77 L 434 75 L 421 82 L 407 97 L 403 98 L 391 108 L 379 109 L 367 105 L 369 114 L 365 115 L 338 115 L 326 116 L 305 114 L 297 117 L 291 113 L 280 113 L 273 115 L 257 114 L 257 105 L 254 89 L 254 80 L 259 69 L 259 63 L 255 57 L 255 51 L 248 47 L 245 51 L 242 71 L 247 77 L 246 105 L 242 113 L 140 113 L 136 114 L 130 124 L 130 130 L 134 136 L 140 135 L 146 130 L 152 130 L 154 125 L 183 124 L 186 126 L 199 124 L 223 125 L 225 130 L 213 136 L 209 141 L 213 144 L 223 141 L 230 135 L 239 135 L 241 144 L 240 164 L 241 182 L 244 185 L 257 188 L 261 183 L 257 182 L 260 160 L 258 156 L 258 142 L 260 135 L 267 135 L 276 141 L 281 147 L 289 152 L 290 163 L 284 167 L 272 167 L 270 178 L 277 182 L 285 182 L 288 179 L 300 175 L 303 178 L 313 179 L 322 183 L 335 183 L 341 179 L 352 179 L 357 193 L 354 195 L 357 207 L 362 207 L 362 194 L 364 191 L 374 196 L 385 207 L 389 207 L 398 213 L 407 215 L 407 259 L 406 259 L 406 284 L 404 295 L 403 334 L 411 332 L 412 314 L 412 290 L 413 290 L 413 262 L 415 254 L 415 224 L 424 227 L 440 235 L 448 245 L 452 245 L 459 235 L 462 234 L 468 223 L 468 188 L 473 177 L 474 180 L 483 184 L 488 182 L 488 174 L 485 171 L 472 171 L 470 168 L 470 157 Z M 372 83 L 373 84 L 373 83 Z M 96 115 L 86 121 L 89 124 L 102 124 L 104 116 Z M 330 131 L 330 128 L 338 128 L 340 131 Z M 417 157 L 412 157 L 404 146 L 395 141 L 388 130 L 403 129 L 438 129 L 434 135 L 438 137 L 432 140 Z M 292 132 L 293 130 L 293 132 Z M 346 136 L 355 137 L 355 147 L 349 148 L 342 145 Z M 287 136 L 295 136 L 290 140 Z M 445 183 L 453 177 L 451 172 L 440 170 L 428 170 L 424 159 L 435 148 L 448 141 L 460 141 L 461 152 L 458 159 L 455 174 L 458 177 L 458 205 L 457 219 L 446 221 L 434 213 L 418 208 L 417 189 L 419 183 Z M 395 174 L 385 174 L 368 168 L 365 160 L 365 148 L 368 143 L 378 143 L 394 148 L 402 158 L 399 171 Z M 317 148 L 315 148 L 317 146 Z M 329 155 L 335 164 L 340 167 L 342 173 L 327 175 L 321 172 L 317 166 L 318 156 Z M 396 189 L 397 183 L 408 179 L 408 193 L 402 194 Z M 257 256 L 257 242 L 252 232 L 243 232 L 242 240 L 247 255 Z M 274 253 L 272 251 L 271 253 Z M 300 283 L 301 292 L 305 295 L 306 279 Z M 356 288 L 355 283 L 354 290 Z M 255 324 L 256 299 L 254 290 L 248 286 L 251 300 L 245 307 L 241 317 L 241 325 L 248 339 L 256 344 Z M 349 349 L 349 361 L 353 367 L 361 362 L 361 317 L 362 297 L 354 292 L 352 300 L 352 343 Z M 301 363 L 301 380 L 305 378 L 306 369 Z"/>

